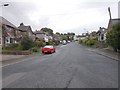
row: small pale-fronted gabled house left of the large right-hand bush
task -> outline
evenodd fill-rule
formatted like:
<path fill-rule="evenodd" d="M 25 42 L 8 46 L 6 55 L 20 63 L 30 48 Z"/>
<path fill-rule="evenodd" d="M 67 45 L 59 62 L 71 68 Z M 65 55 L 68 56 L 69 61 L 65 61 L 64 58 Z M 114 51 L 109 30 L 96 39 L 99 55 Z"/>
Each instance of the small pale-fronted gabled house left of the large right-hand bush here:
<path fill-rule="evenodd" d="M 98 35 L 98 41 L 100 42 L 104 42 L 106 40 L 106 34 L 107 34 L 107 29 L 104 27 L 100 27 L 97 35 Z"/>

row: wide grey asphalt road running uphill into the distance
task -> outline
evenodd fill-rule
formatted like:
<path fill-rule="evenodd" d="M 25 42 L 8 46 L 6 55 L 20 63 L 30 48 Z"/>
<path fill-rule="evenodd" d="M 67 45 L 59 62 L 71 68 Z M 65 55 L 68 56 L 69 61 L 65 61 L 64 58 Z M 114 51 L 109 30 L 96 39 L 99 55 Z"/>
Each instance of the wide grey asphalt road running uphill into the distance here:
<path fill-rule="evenodd" d="M 118 62 L 69 43 L 2 67 L 3 88 L 117 88 Z"/>

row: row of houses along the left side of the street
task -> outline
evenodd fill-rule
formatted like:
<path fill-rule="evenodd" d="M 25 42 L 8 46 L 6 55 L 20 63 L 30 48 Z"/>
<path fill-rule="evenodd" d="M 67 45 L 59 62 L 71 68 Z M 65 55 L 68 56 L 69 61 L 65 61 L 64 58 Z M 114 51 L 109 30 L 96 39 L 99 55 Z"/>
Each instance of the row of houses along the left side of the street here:
<path fill-rule="evenodd" d="M 0 45 L 7 45 L 10 43 L 19 42 L 22 37 L 29 36 L 31 39 L 44 39 L 46 42 L 53 39 L 51 35 L 43 31 L 32 31 L 31 26 L 26 26 L 23 23 L 16 27 L 11 22 L 0 16 Z"/>

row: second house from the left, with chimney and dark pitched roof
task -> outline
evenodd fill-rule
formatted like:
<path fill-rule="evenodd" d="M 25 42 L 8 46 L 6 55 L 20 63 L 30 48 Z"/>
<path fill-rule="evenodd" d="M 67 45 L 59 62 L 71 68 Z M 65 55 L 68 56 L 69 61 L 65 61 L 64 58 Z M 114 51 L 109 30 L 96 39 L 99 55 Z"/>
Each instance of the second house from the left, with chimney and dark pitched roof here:
<path fill-rule="evenodd" d="M 30 26 L 25 26 L 23 23 L 21 23 L 18 28 L 19 28 L 19 31 L 17 32 L 18 38 L 27 35 L 31 39 L 35 40 L 35 34 Z"/>

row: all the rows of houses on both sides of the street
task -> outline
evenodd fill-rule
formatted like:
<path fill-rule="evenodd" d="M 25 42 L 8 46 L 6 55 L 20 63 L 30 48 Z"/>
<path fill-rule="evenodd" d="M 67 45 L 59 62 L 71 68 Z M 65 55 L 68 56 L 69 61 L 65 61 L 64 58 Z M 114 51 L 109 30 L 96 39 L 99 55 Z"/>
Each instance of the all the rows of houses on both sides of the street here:
<path fill-rule="evenodd" d="M 80 38 L 86 38 L 86 37 L 97 37 L 98 41 L 102 42 L 106 40 L 106 34 L 111 29 L 111 27 L 120 22 L 120 18 L 117 19 L 110 19 L 108 22 L 108 27 L 100 27 L 97 32 L 92 32 L 90 34 L 83 33 L 82 35 L 79 35 L 75 39 Z M 31 39 L 35 40 L 36 38 L 40 38 L 48 42 L 49 39 L 59 39 L 56 35 L 49 35 L 46 32 L 36 30 L 32 31 L 31 26 L 26 26 L 23 23 L 21 23 L 18 27 L 13 25 L 11 22 L 6 20 L 5 18 L 0 16 L 0 45 L 6 45 L 10 43 L 17 43 L 19 42 L 22 37 L 25 35 L 29 36 Z"/>

